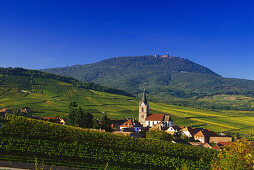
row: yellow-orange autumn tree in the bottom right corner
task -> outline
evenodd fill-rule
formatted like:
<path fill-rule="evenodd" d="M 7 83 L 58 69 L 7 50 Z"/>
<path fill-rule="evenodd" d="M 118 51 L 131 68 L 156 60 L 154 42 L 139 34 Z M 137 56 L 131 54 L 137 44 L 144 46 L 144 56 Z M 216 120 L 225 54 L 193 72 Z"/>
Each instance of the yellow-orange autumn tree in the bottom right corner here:
<path fill-rule="evenodd" d="M 214 159 L 213 169 L 254 169 L 254 146 L 247 139 L 236 139 Z"/>

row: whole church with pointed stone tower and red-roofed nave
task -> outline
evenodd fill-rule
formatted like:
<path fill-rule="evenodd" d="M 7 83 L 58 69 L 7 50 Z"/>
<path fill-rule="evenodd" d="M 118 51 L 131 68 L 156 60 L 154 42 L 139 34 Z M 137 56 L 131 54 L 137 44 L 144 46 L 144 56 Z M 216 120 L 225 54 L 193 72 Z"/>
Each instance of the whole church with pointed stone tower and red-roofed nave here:
<path fill-rule="evenodd" d="M 146 99 L 146 90 L 144 90 L 142 100 L 139 102 L 139 122 L 143 127 L 153 127 L 156 124 L 161 124 L 162 127 L 169 128 L 173 126 L 173 120 L 169 115 L 151 114 L 149 115 L 149 104 Z"/>

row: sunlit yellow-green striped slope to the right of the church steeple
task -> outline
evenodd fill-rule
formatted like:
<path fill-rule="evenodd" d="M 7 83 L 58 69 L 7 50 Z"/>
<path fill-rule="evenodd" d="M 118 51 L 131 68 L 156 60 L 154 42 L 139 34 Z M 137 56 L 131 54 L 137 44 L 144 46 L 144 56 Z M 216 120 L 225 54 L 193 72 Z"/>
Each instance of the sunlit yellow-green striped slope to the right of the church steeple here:
<path fill-rule="evenodd" d="M 254 134 L 251 130 L 254 127 L 254 112 L 250 111 L 220 111 L 214 112 L 209 110 L 194 109 L 162 103 L 150 103 L 150 107 L 163 113 L 181 117 L 189 121 L 192 126 L 206 127 L 211 130 L 232 131 L 245 134 Z"/>

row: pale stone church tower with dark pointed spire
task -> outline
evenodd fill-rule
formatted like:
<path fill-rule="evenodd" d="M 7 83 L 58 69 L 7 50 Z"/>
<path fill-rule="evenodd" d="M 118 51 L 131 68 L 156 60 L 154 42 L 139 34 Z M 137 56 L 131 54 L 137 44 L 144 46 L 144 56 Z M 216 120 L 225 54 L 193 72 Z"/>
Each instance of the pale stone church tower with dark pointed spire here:
<path fill-rule="evenodd" d="M 143 125 L 146 126 L 146 118 L 149 115 L 149 104 L 146 99 L 146 89 L 144 89 L 144 93 L 142 96 L 142 100 L 139 102 L 139 122 Z"/>

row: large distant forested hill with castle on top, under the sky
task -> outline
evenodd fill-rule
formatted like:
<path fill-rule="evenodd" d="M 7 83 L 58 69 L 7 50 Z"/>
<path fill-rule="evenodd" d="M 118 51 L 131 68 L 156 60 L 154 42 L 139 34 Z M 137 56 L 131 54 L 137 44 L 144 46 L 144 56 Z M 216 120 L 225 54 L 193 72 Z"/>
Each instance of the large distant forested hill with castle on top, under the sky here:
<path fill-rule="evenodd" d="M 93 64 L 42 71 L 119 88 L 132 94 L 138 94 L 146 87 L 150 96 L 160 99 L 254 94 L 254 81 L 224 78 L 180 57 L 116 57 Z"/>

